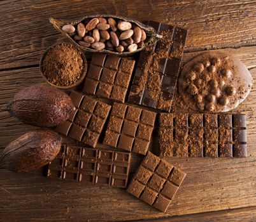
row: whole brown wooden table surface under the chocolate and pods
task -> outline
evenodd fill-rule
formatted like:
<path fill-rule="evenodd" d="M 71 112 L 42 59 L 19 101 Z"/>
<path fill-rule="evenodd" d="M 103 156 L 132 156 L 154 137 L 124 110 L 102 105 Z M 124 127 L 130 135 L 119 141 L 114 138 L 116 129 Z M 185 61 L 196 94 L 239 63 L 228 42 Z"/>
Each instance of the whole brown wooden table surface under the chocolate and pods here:
<path fill-rule="evenodd" d="M 76 20 L 113 14 L 188 28 L 183 63 L 205 50 L 232 53 L 256 77 L 256 1 L 0 1 L 0 150 L 35 129 L 6 111 L 20 89 L 43 82 L 39 57 L 60 34 L 50 16 Z M 187 178 L 162 213 L 123 189 L 65 183 L 42 171 L 0 169 L 0 221 L 255 221 L 256 91 L 234 112 L 247 114 L 248 157 L 166 159 Z M 157 153 L 157 142 L 152 143 Z M 1 152 L 1 151 L 0 151 Z M 132 155 L 134 173 L 142 157 Z"/>

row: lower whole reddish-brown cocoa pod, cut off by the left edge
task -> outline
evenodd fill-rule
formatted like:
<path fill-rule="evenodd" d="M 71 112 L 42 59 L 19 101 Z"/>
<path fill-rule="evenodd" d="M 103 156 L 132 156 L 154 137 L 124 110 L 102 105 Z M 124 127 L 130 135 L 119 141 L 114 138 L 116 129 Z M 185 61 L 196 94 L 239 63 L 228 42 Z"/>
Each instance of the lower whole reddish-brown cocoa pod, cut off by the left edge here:
<path fill-rule="evenodd" d="M 59 153 L 61 136 L 51 130 L 35 130 L 12 141 L 4 148 L 0 167 L 28 172 L 45 166 Z"/>

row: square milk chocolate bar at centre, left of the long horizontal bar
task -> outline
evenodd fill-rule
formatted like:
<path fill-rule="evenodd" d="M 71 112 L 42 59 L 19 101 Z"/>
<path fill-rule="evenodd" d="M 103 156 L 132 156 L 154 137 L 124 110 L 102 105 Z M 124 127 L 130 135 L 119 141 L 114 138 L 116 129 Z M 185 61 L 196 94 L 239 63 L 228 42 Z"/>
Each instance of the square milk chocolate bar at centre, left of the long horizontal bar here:
<path fill-rule="evenodd" d="M 103 143 L 146 155 L 155 116 L 148 110 L 114 103 Z"/>

